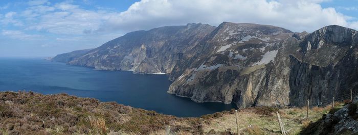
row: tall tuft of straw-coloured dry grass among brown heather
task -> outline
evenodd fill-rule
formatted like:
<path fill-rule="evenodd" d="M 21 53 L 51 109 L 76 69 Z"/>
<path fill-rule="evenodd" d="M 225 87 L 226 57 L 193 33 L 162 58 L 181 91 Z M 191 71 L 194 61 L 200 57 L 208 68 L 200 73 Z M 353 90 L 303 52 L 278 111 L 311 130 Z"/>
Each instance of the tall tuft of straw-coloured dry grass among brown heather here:
<path fill-rule="evenodd" d="M 92 130 L 99 134 L 107 134 L 106 122 L 103 117 L 97 118 L 88 116 L 87 118 Z"/>

